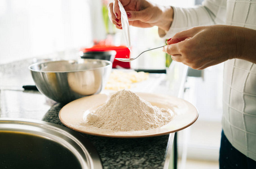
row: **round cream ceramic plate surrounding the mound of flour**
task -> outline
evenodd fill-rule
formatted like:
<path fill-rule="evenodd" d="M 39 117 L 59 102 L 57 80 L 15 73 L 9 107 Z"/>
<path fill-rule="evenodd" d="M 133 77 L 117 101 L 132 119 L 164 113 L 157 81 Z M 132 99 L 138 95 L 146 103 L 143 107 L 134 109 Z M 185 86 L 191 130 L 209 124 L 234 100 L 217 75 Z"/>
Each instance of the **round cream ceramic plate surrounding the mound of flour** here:
<path fill-rule="evenodd" d="M 136 94 L 142 99 L 159 108 L 171 109 L 173 119 L 165 126 L 144 131 L 109 131 L 85 125 L 88 112 L 96 110 L 107 103 L 111 95 L 99 94 L 83 97 L 65 105 L 59 112 L 60 121 L 67 127 L 78 132 L 105 137 L 149 137 L 170 134 L 191 126 L 197 118 L 198 111 L 191 103 L 177 97 L 149 93 Z"/>

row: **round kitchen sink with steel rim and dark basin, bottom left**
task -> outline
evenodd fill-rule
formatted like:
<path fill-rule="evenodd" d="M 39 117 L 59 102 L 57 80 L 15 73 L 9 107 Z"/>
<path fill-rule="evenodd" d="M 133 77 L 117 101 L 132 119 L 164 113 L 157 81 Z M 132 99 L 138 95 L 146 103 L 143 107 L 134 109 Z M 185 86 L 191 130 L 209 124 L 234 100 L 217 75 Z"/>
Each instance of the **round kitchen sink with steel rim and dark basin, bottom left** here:
<path fill-rule="evenodd" d="M 94 146 L 69 128 L 0 118 L 0 168 L 102 168 Z"/>

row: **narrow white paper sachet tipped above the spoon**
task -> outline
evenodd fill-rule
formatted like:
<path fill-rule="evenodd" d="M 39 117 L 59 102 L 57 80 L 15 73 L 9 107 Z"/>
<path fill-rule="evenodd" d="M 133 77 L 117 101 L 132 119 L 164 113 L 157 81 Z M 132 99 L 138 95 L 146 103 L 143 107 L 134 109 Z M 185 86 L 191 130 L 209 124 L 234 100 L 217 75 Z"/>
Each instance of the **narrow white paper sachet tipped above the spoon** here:
<path fill-rule="evenodd" d="M 126 46 L 131 50 L 131 39 L 130 39 L 130 29 L 129 29 L 129 21 L 123 5 L 120 1 L 118 1 L 119 9 L 121 12 L 121 23 L 123 29 L 123 36 L 125 37 Z"/>

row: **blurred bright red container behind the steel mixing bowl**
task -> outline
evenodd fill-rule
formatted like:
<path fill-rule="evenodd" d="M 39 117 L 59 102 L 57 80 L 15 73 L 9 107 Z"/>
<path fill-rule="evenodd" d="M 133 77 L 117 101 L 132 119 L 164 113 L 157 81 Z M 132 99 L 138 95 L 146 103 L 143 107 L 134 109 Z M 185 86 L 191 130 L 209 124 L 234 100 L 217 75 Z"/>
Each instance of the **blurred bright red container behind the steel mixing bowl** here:
<path fill-rule="evenodd" d="M 94 45 L 91 48 L 82 48 L 81 51 L 83 53 L 91 52 L 91 51 L 109 51 L 114 50 L 117 52 L 115 58 L 130 58 L 130 50 L 126 46 L 104 46 L 104 45 Z M 129 62 L 123 62 L 119 60 L 113 61 L 113 68 L 117 68 L 118 66 L 121 66 L 122 68 L 130 69 L 130 63 Z"/>

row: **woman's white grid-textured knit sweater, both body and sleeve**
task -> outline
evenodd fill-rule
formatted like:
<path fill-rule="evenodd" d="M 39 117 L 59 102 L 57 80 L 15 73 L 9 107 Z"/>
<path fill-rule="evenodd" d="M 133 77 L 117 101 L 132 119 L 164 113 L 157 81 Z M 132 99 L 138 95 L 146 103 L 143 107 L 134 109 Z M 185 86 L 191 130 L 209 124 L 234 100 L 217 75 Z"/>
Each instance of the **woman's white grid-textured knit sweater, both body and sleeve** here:
<path fill-rule="evenodd" d="M 202 6 L 174 7 L 173 24 L 164 38 L 193 26 L 213 24 L 256 30 L 256 0 L 205 0 Z M 228 60 L 223 78 L 224 134 L 236 149 L 256 161 L 256 64 Z"/>

